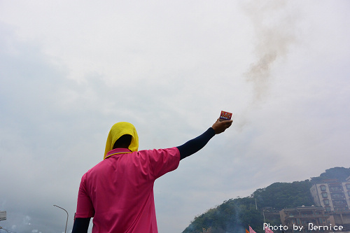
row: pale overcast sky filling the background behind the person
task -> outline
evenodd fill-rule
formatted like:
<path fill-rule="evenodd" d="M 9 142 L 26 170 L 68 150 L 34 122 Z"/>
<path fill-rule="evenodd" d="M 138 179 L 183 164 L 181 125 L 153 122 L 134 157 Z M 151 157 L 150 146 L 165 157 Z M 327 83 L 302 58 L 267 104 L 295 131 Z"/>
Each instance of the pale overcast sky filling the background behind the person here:
<path fill-rule="evenodd" d="M 274 182 L 350 167 L 349 1 L 0 0 L 0 226 L 67 232 L 110 127 L 180 146 L 155 182 L 160 233 Z"/>

